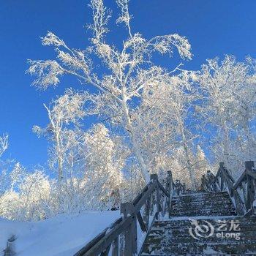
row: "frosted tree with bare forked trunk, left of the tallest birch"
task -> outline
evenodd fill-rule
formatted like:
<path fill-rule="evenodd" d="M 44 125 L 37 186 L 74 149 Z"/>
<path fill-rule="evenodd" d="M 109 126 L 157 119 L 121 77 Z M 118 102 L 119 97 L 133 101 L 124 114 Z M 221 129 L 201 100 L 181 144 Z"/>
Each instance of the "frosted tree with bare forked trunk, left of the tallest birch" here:
<path fill-rule="evenodd" d="M 48 112 L 48 126 L 33 127 L 38 136 L 43 135 L 50 140 L 49 163 L 53 170 L 57 170 L 59 181 L 64 175 L 72 176 L 75 165 L 82 164 L 85 158 L 85 134 L 79 128 L 79 121 L 85 116 L 84 102 L 84 94 L 67 89 L 49 107 L 44 105 Z"/>

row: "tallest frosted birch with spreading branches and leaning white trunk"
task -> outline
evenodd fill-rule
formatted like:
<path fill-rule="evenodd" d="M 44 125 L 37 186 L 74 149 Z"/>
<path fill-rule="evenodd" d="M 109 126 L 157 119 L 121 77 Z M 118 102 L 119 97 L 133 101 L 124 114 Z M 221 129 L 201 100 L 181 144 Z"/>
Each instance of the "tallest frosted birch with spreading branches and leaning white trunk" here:
<path fill-rule="evenodd" d="M 138 145 L 131 112 L 136 105 L 135 101 L 140 101 L 144 86 L 160 83 L 168 73 L 154 64 L 154 53 L 173 56 L 176 49 L 182 59 L 191 59 L 192 55 L 189 42 L 178 34 L 158 35 L 146 39 L 138 32 L 132 31 L 128 0 L 116 0 L 116 4 L 119 10 L 116 24 L 123 24 L 127 31 L 127 37 L 122 40 L 121 47 L 118 48 L 107 41 L 110 10 L 102 0 L 91 0 L 93 23 L 89 26 L 92 31 L 89 48 L 71 48 L 63 39 L 48 32 L 42 38 L 42 45 L 53 45 L 57 57 L 54 60 L 30 60 L 28 72 L 36 75 L 33 85 L 40 89 L 57 86 L 63 75 L 75 76 L 87 90 L 88 86 L 97 89 L 96 94 L 90 93 L 91 102 L 95 107 L 94 113 L 106 116 L 108 121 L 124 129 L 140 163 L 143 176 L 148 181 L 148 168 Z M 97 69 L 94 61 L 96 58 L 102 64 L 104 72 Z"/>

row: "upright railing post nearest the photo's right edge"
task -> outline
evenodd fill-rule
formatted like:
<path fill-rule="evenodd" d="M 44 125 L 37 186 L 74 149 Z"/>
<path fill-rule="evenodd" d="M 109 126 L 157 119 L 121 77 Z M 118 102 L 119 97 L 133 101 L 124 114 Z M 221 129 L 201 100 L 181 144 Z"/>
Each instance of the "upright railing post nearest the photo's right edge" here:
<path fill-rule="evenodd" d="M 247 200 L 246 200 L 246 211 L 253 211 L 253 201 L 255 200 L 255 187 L 252 181 L 252 177 L 247 174 L 247 171 L 253 171 L 252 168 L 255 167 L 255 163 L 253 161 L 245 162 L 245 170 L 246 170 L 246 181 L 247 181 Z"/>

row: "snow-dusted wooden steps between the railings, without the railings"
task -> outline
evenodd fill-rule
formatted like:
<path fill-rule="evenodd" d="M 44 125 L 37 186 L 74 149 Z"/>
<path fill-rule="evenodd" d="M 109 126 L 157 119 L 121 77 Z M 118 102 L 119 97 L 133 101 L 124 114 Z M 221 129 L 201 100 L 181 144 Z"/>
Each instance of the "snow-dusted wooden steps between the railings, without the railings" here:
<path fill-rule="evenodd" d="M 206 227 L 195 233 L 193 221 L 198 227 Z M 140 253 L 142 256 L 246 254 L 256 255 L 256 217 L 236 216 L 227 192 L 173 197 L 170 219 L 151 225 Z"/>

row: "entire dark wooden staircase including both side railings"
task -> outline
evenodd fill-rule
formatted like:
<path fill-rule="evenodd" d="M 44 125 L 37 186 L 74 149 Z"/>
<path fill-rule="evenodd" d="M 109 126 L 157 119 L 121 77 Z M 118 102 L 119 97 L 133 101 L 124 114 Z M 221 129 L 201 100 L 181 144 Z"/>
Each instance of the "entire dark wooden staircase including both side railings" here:
<path fill-rule="evenodd" d="M 121 204 L 120 218 L 75 256 L 256 255 L 254 162 L 245 162 L 237 181 L 220 163 L 215 176 L 202 177 L 200 192 L 177 191 L 171 171 L 162 184 L 152 174 Z"/>

